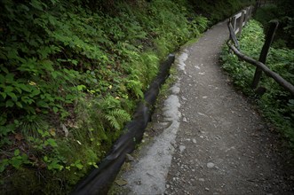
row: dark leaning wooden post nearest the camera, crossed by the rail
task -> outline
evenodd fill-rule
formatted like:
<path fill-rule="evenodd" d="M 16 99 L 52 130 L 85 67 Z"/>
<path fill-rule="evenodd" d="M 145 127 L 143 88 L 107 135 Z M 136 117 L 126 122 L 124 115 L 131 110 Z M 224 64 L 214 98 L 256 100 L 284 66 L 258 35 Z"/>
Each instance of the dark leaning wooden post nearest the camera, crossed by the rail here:
<path fill-rule="evenodd" d="M 262 50 L 260 52 L 259 59 L 258 59 L 258 61 L 263 64 L 266 64 L 266 56 L 267 56 L 269 48 L 273 42 L 274 34 L 275 34 L 275 31 L 276 31 L 278 25 L 279 25 L 279 22 L 277 20 L 270 21 L 270 26 L 269 26 L 269 29 L 266 34 L 266 41 L 265 41 L 264 46 L 262 47 Z M 262 74 L 262 70 L 257 67 L 255 70 L 255 74 L 254 74 L 254 78 L 253 78 L 253 82 L 252 82 L 252 86 L 251 86 L 252 89 L 257 88 L 261 74 Z"/>

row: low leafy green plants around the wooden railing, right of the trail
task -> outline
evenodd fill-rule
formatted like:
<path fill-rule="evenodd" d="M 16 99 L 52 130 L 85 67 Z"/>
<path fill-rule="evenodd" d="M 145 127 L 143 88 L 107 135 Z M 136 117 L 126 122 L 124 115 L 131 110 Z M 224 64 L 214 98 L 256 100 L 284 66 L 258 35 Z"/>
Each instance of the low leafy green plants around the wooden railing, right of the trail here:
<path fill-rule="evenodd" d="M 241 51 L 247 56 L 258 59 L 263 43 L 264 33 L 261 24 L 256 20 L 250 20 L 242 30 L 239 42 Z M 227 50 L 225 46 L 221 55 L 222 67 L 232 76 L 235 86 L 256 100 L 261 112 L 282 132 L 290 146 L 294 147 L 293 96 L 265 74 L 259 86 L 266 88 L 266 93 L 262 96 L 254 93 L 250 85 L 253 81 L 255 66 L 239 61 Z M 294 50 L 271 48 L 266 58 L 266 66 L 294 84 Z"/>

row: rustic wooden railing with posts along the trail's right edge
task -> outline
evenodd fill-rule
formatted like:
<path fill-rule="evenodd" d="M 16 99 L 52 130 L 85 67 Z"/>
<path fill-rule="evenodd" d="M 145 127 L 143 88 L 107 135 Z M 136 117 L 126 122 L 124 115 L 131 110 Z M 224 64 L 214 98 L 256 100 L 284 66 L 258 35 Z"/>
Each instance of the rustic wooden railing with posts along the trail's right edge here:
<path fill-rule="evenodd" d="M 249 9 L 249 11 L 247 9 Z M 246 61 L 251 65 L 256 66 L 256 72 L 254 74 L 253 82 L 251 85 L 252 89 L 256 89 L 258 87 L 258 82 L 260 80 L 261 74 L 262 72 L 264 72 L 267 76 L 273 78 L 275 82 L 279 83 L 285 90 L 290 91 L 290 93 L 294 96 L 294 86 L 290 82 L 284 80 L 279 74 L 274 73 L 274 71 L 270 70 L 265 65 L 267 53 L 269 51 L 271 43 L 273 42 L 276 28 L 278 27 L 278 21 L 274 20 L 270 22 L 270 27 L 266 34 L 266 41 L 262 47 L 258 60 L 250 58 L 240 51 L 236 34 L 241 35 L 242 27 L 246 25 L 247 21 L 250 19 L 251 12 L 252 7 L 246 8 L 246 10 L 235 14 L 229 20 L 229 22 L 227 23 L 227 27 L 229 29 L 230 39 L 226 42 L 226 44 L 239 59 L 242 59 L 243 61 Z M 238 21 L 239 18 L 240 20 Z"/>

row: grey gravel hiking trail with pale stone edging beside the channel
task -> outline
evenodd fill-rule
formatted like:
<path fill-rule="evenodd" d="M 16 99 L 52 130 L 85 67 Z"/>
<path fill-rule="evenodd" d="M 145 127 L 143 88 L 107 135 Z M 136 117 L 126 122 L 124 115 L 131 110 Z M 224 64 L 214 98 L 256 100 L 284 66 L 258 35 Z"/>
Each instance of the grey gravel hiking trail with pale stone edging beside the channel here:
<path fill-rule="evenodd" d="M 219 66 L 227 39 L 221 22 L 176 55 L 177 81 L 116 194 L 294 194 L 291 152 Z"/>

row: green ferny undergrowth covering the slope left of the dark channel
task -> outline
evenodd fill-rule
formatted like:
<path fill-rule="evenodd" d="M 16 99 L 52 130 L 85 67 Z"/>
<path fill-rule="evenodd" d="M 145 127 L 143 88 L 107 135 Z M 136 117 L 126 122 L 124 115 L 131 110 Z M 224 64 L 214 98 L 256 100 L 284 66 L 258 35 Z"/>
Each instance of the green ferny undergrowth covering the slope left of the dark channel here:
<path fill-rule="evenodd" d="M 0 15 L 2 194 L 71 191 L 160 61 L 209 24 L 185 0 L 3 0 Z"/>

